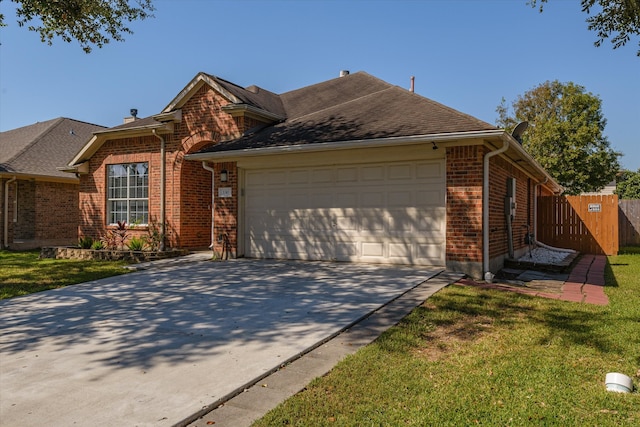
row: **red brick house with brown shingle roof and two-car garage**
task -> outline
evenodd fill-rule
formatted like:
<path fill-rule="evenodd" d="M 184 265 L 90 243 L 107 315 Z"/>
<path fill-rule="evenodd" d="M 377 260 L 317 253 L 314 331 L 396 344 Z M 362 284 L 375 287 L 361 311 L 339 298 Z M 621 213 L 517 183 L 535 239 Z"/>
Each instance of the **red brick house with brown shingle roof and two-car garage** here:
<path fill-rule="evenodd" d="M 503 130 L 364 72 L 279 95 L 199 73 L 69 170 L 83 235 L 165 224 L 171 247 L 474 277 L 524 252 L 536 197 L 562 191 Z"/>

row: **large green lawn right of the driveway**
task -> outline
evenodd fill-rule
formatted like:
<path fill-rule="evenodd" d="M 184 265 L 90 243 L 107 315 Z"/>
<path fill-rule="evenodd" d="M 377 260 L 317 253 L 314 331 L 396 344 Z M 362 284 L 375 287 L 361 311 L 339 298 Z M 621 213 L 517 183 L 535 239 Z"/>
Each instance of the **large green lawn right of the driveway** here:
<path fill-rule="evenodd" d="M 608 306 L 449 286 L 255 426 L 640 425 L 640 251 Z"/>

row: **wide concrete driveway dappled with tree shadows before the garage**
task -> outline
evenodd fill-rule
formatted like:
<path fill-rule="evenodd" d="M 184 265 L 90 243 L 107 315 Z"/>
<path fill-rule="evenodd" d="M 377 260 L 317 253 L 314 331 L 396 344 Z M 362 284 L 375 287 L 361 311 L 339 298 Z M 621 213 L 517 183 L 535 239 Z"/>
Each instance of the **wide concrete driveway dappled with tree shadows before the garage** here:
<path fill-rule="evenodd" d="M 0 301 L 0 424 L 180 423 L 440 271 L 203 261 Z"/>

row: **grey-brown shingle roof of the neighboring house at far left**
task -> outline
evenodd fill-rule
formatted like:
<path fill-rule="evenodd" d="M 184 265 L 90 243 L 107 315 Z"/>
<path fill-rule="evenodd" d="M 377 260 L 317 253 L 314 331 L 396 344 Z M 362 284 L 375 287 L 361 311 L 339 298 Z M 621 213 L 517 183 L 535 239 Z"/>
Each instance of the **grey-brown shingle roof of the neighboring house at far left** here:
<path fill-rule="evenodd" d="M 0 132 L 0 173 L 69 178 L 57 170 L 103 126 L 60 117 Z"/>

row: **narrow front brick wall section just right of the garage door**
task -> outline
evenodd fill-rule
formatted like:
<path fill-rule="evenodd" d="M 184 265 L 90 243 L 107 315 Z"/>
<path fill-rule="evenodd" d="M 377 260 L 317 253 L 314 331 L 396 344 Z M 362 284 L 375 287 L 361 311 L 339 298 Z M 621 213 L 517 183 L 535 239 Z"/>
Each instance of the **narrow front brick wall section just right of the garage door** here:
<path fill-rule="evenodd" d="M 447 148 L 447 261 L 482 262 L 482 146 Z"/>

